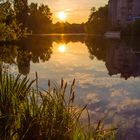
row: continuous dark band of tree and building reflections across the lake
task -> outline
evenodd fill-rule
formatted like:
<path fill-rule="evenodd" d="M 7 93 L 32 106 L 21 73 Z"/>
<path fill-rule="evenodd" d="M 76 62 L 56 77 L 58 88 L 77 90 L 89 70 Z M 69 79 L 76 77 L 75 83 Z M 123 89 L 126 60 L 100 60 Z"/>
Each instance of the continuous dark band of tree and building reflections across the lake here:
<path fill-rule="evenodd" d="M 16 64 L 19 73 L 27 75 L 30 63 L 49 61 L 53 53 L 53 42 L 85 43 L 90 58 L 105 62 L 110 76 L 120 74 L 128 79 L 140 76 L 140 43 L 138 39 L 109 40 L 104 37 L 83 35 L 30 36 L 16 45 L 0 46 L 1 63 Z"/>

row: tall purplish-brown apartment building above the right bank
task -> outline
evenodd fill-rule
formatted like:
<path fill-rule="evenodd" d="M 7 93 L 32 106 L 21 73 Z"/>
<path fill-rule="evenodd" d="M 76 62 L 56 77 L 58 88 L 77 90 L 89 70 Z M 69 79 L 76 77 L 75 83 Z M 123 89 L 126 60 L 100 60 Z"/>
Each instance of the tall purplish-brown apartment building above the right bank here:
<path fill-rule="evenodd" d="M 109 0 L 112 25 L 126 26 L 140 19 L 140 0 Z"/>

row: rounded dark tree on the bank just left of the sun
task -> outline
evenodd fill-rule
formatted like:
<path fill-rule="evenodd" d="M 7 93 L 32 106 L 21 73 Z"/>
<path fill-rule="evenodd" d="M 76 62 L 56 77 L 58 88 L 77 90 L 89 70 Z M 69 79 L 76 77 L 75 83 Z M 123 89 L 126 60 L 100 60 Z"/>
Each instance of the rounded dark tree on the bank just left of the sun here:
<path fill-rule="evenodd" d="M 51 32 L 52 13 L 47 5 L 31 3 L 29 6 L 28 28 L 33 33 Z"/>

